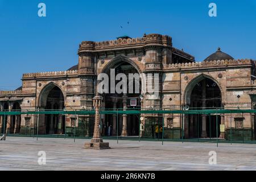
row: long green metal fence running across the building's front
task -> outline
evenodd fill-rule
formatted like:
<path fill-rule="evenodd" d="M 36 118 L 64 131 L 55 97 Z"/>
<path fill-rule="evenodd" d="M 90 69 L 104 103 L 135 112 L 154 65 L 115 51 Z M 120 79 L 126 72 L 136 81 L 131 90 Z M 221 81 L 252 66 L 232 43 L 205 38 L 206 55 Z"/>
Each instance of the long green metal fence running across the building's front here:
<path fill-rule="evenodd" d="M 116 121 L 116 134 L 114 136 L 108 136 L 106 134 L 107 130 L 104 126 L 104 123 L 101 123 L 101 131 L 104 139 L 115 139 L 117 142 L 119 140 L 155 140 L 164 143 L 164 141 L 171 140 L 177 142 L 213 142 L 218 143 L 228 142 L 230 144 L 235 142 L 240 143 L 256 143 L 255 141 L 255 129 L 254 129 L 254 109 L 243 109 L 242 107 L 237 108 L 191 108 L 189 110 L 180 110 L 180 109 L 161 109 L 161 110 L 152 110 L 152 109 L 101 109 L 100 114 L 105 115 L 115 115 Z M 39 116 L 42 114 L 56 114 L 56 115 L 74 115 L 75 119 L 71 125 L 67 125 L 65 121 L 65 128 L 61 134 L 47 134 L 42 135 L 39 133 Z M 94 128 L 94 110 L 16 110 L 16 111 L 0 111 L 0 116 L 2 117 L 2 129 L 1 133 L 6 133 L 9 136 L 26 136 L 26 137 L 58 137 L 58 138 L 73 138 L 74 142 L 76 138 L 92 138 L 93 128 Z M 138 135 L 122 137 L 122 117 L 123 114 L 126 115 L 135 115 L 139 121 Z M 225 138 L 220 138 L 220 117 L 218 115 L 225 114 Z M 234 115 L 241 114 L 238 119 L 242 118 L 241 121 L 234 122 Z M 29 123 L 26 122 L 26 125 L 22 126 L 23 133 L 20 134 L 10 134 L 6 129 L 7 125 L 10 125 L 10 119 L 7 119 L 13 115 L 30 115 L 30 118 L 34 120 Z M 180 121 L 179 126 L 174 126 L 174 121 L 172 121 L 172 126 L 169 126 L 169 121 L 164 120 L 168 119 L 168 115 L 172 115 L 172 119 L 177 119 Z M 174 117 L 175 115 L 175 117 Z M 207 127 L 208 127 L 208 137 L 201 138 L 201 125 L 202 121 L 200 117 L 208 118 Z M 143 117 L 143 121 L 141 118 Z M 189 124 L 188 118 L 195 117 L 193 123 Z M 245 126 L 244 118 L 251 120 L 250 125 L 248 122 Z M 214 119 L 213 119 L 214 118 Z M 65 117 L 67 119 L 67 117 Z M 7 122 L 6 122 L 7 121 Z M 121 121 L 121 122 L 120 122 Z M 238 123 L 238 124 L 237 124 Z M 120 126 L 121 125 L 121 126 Z M 191 126 L 195 125 L 195 126 Z M 186 134 L 188 127 L 193 128 L 193 136 L 188 136 Z M 189 129 L 190 130 L 190 129 Z M 189 133 L 190 135 L 190 133 Z"/>

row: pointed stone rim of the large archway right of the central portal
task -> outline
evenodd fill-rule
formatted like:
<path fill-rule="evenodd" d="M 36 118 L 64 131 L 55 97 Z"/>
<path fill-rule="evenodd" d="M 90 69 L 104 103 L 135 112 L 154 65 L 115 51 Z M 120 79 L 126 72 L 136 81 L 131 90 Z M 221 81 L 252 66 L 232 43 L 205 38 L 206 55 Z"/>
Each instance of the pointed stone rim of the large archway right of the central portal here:
<path fill-rule="evenodd" d="M 217 86 L 221 92 L 221 103 L 224 104 L 224 92 L 223 92 L 223 89 L 222 89 L 221 85 L 219 84 L 219 82 L 217 80 L 215 80 L 212 76 L 201 73 L 199 76 L 196 76 L 195 78 L 193 78 L 186 86 L 186 88 L 184 90 L 184 96 L 183 96 L 184 105 L 191 104 L 190 102 L 191 102 L 192 90 L 196 86 L 196 84 L 198 82 L 202 81 L 204 78 L 209 78 L 210 80 L 214 81 L 217 84 Z"/>

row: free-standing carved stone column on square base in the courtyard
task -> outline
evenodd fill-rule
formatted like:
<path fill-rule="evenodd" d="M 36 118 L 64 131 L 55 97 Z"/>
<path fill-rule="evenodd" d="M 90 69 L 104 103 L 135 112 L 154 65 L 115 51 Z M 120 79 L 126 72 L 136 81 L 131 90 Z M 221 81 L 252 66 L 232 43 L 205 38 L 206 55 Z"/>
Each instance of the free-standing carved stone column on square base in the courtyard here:
<path fill-rule="evenodd" d="M 95 108 L 95 122 L 94 122 L 94 131 L 93 138 L 90 140 L 90 143 L 85 143 L 85 148 L 93 149 L 107 149 L 109 148 L 109 143 L 103 142 L 100 133 L 100 106 L 101 106 L 102 97 L 96 95 L 93 97 L 93 106 Z"/>

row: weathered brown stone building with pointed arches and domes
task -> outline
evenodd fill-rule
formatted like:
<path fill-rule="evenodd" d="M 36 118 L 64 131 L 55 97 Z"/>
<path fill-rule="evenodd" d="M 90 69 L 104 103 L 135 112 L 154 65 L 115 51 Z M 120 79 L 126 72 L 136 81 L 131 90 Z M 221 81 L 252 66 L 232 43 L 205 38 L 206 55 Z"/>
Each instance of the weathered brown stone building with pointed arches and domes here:
<path fill-rule="evenodd" d="M 102 94 L 102 109 L 177 109 L 188 105 L 190 109 L 253 109 L 256 83 L 255 60 L 235 60 L 217 49 L 201 62 L 183 50 L 172 46 L 167 35 L 144 34 L 142 38 L 123 36 L 105 42 L 84 41 L 79 45 L 79 63 L 67 71 L 25 73 L 22 87 L 0 92 L 1 110 L 88 110 L 93 109 L 97 75 L 115 69 L 115 74 L 159 74 L 159 96 L 152 94 Z M 146 129 L 162 121 L 166 138 L 180 138 L 180 114 L 144 114 Z M 216 117 L 218 123 L 216 123 Z M 34 133 L 39 121 L 39 134 L 63 134 L 65 128 L 83 126 L 80 135 L 90 135 L 93 115 L 7 115 L 1 116 L 7 133 Z M 230 120 L 231 119 L 231 120 Z M 5 120 L 5 121 L 4 121 Z M 79 122 L 76 122 L 76 121 Z M 212 121 L 212 122 L 210 122 Z M 255 118 L 252 114 L 185 115 L 185 138 L 228 138 L 230 121 L 234 136 L 243 132 L 246 139 L 254 139 Z M 220 124 L 225 133 L 220 133 Z M 102 135 L 139 135 L 138 115 L 101 114 Z M 118 128 L 117 128 L 118 127 Z M 218 130 L 218 133 L 216 131 Z M 143 132 L 142 132 L 143 134 Z M 151 134 L 148 134 L 149 136 Z M 209 136 L 211 135 L 211 136 Z"/>

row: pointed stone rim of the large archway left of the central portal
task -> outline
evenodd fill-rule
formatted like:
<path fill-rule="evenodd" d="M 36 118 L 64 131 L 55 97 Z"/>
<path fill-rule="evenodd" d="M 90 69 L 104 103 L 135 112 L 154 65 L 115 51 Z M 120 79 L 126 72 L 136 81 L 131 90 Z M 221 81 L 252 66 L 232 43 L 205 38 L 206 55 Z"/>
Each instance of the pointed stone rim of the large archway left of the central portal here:
<path fill-rule="evenodd" d="M 57 88 L 59 88 L 64 96 L 64 103 L 66 103 L 65 101 L 65 95 L 63 90 L 60 88 L 59 85 L 57 85 L 55 82 L 49 82 L 47 85 L 44 86 L 44 88 L 41 90 L 39 97 L 38 97 L 38 106 L 39 107 L 46 107 L 46 102 L 47 102 L 47 96 L 49 94 L 49 92 L 51 92 L 51 90 L 53 88 L 55 88 L 55 86 L 57 86 Z"/>

